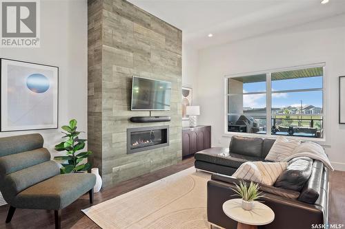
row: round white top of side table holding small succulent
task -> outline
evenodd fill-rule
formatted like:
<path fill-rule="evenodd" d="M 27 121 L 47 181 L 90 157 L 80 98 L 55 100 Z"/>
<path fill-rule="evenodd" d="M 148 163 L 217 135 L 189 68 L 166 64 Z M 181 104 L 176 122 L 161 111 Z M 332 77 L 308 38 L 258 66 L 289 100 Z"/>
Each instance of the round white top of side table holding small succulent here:
<path fill-rule="evenodd" d="M 229 199 L 223 204 L 223 211 L 230 219 L 237 221 L 237 229 L 255 229 L 275 219 L 275 212 L 259 201 L 254 202 L 252 210 L 244 210 L 242 199 Z"/>

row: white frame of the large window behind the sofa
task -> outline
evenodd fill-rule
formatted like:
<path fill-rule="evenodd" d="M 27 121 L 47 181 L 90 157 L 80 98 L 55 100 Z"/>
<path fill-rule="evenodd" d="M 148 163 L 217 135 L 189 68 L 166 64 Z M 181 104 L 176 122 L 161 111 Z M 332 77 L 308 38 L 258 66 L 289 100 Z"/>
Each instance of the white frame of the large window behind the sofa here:
<path fill-rule="evenodd" d="M 322 138 L 308 138 L 308 137 L 298 137 L 298 136 L 290 136 L 286 135 L 288 139 L 299 139 L 299 140 L 308 140 L 314 142 L 326 142 L 326 113 L 327 107 L 325 104 L 326 98 L 326 63 L 314 63 L 309 65 L 299 65 L 294 67 L 282 67 L 277 69 L 267 69 L 263 71 L 257 72 L 245 72 L 241 74 L 226 74 L 224 76 L 224 136 L 232 136 L 232 135 L 245 135 L 248 137 L 261 137 L 261 138 L 278 138 L 279 135 L 274 135 L 271 133 L 270 129 L 272 127 L 272 80 L 271 76 L 274 72 L 286 72 L 286 71 L 293 71 L 299 69 L 306 69 L 306 68 L 313 68 L 313 67 L 322 67 L 323 75 L 322 75 L 322 126 L 323 126 L 323 135 Z M 243 76 L 253 76 L 259 74 L 266 74 L 266 133 L 242 133 L 242 132 L 231 132 L 228 131 L 228 78 L 236 78 L 236 77 L 243 77 Z M 320 89 L 290 89 L 286 90 L 288 92 L 294 91 L 320 91 Z M 275 92 L 277 93 L 277 92 Z"/>

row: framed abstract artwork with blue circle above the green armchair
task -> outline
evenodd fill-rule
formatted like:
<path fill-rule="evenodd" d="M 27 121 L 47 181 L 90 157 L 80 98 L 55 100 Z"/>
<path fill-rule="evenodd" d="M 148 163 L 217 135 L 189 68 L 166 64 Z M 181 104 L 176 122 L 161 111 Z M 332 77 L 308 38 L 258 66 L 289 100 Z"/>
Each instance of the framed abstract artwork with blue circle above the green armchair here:
<path fill-rule="evenodd" d="M 57 129 L 59 67 L 0 61 L 1 131 Z"/>

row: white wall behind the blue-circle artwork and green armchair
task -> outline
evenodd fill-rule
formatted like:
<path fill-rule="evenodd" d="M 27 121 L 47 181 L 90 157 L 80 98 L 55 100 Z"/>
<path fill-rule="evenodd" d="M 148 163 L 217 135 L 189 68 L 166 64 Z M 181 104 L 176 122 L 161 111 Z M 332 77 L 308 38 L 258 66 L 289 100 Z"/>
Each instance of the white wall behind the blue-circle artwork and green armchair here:
<path fill-rule="evenodd" d="M 59 127 L 76 118 L 82 131 L 87 131 L 87 14 L 87 0 L 41 0 L 41 47 L 0 48 L 1 58 L 59 67 Z M 54 146 L 61 140 L 59 129 L 14 131 L 0 133 L 0 137 L 26 133 L 41 133 L 44 146 L 57 154 Z"/>

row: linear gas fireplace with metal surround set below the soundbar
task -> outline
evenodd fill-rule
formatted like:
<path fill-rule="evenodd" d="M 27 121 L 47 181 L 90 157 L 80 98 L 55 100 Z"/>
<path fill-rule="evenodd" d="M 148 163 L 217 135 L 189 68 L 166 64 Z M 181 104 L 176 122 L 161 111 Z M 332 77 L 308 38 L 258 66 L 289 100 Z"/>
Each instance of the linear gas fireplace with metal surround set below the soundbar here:
<path fill-rule="evenodd" d="M 169 126 L 127 129 L 127 154 L 169 145 Z"/>

